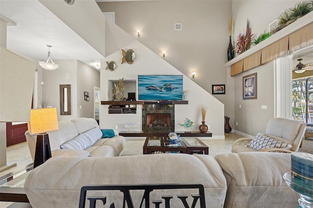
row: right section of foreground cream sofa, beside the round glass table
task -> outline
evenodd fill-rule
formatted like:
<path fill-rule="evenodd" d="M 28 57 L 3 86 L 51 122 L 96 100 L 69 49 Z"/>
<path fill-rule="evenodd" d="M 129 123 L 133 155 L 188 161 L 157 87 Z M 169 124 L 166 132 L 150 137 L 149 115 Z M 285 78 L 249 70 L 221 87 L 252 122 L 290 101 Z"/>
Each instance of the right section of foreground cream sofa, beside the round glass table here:
<path fill-rule="evenodd" d="M 215 156 L 227 181 L 226 208 L 296 208 L 299 194 L 283 179 L 290 172 L 291 154 L 225 153 Z"/>

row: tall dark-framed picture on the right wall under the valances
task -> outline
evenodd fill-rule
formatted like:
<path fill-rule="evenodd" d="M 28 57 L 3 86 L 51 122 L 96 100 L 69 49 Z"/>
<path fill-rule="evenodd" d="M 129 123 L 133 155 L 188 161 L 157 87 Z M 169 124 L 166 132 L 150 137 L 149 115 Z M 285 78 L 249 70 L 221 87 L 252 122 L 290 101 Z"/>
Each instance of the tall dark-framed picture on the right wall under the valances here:
<path fill-rule="evenodd" d="M 243 77 L 243 100 L 257 99 L 257 73 Z"/>

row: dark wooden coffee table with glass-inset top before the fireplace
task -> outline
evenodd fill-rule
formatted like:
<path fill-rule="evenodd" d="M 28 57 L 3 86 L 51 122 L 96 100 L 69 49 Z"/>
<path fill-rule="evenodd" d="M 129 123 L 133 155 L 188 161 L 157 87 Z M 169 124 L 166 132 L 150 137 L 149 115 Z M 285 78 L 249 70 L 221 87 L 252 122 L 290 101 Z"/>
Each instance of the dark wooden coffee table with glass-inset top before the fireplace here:
<path fill-rule="evenodd" d="M 181 138 L 177 146 L 171 146 L 166 137 L 147 137 L 143 154 L 157 153 L 209 154 L 209 147 L 196 137 Z"/>

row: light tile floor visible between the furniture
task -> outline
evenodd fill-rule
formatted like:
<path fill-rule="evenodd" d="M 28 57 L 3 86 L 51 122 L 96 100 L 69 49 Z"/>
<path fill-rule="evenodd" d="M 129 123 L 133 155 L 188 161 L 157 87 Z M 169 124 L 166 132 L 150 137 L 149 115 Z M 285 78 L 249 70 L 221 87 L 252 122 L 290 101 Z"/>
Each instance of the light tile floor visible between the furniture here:
<path fill-rule="evenodd" d="M 205 139 L 201 140 L 207 146 L 209 146 L 209 154 L 215 156 L 219 153 L 231 152 L 231 146 L 233 142 L 243 136 L 236 133 L 225 133 L 225 140 L 223 139 Z M 200 138 L 201 139 L 201 138 Z M 142 154 L 142 146 L 145 142 L 143 137 L 129 139 L 126 137 L 126 146 L 123 150 L 122 156 L 126 155 L 138 155 Z M 17 166 L 3 171 L 0 173 L 0 177 L 10 173 L 12 171 L 20 170 L 22 167 L 32 163 L 30 152 L 27 143 L 21 143 L 14 146 L 9 146 L 7 148 L 7 163 L 17 163 Z M 28 204 L 29 205 L 29 204 Z M 0 202 L 0 208 L 15 208 L 28 206 L 27 204 L 10 203 L 10 202 Z"/>

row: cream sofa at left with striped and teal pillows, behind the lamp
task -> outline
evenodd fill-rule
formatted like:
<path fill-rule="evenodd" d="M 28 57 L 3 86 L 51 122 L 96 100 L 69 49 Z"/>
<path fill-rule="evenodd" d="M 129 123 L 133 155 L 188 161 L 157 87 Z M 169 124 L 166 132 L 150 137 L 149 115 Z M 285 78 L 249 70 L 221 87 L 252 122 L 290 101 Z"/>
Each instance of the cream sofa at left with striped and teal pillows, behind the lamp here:
<path fill-rule="evenodd" d="M 91 118 L 77 118 L 71 121 L 59 121 L 59 130 L 50 131 L 49 143 L 51 155 L 54 156 L 84 156 L 84 157 L 113 157 L 122 154 L 126 145 L 125 138 L 118 135 L 114 130 L 114 137 L 102 138 L 102 132 L 96 120 Z M 92 138 L 86 148 L 81 149 L 62 149 L 61 145 L 77 138 L 88 135 Z M 35 157 L 37 134 L 25 132 L 26 141 L 30 150 L 32 159 Z M 86 138 L 86 137 L 84 137 Z"/>

